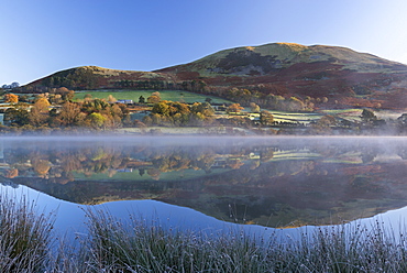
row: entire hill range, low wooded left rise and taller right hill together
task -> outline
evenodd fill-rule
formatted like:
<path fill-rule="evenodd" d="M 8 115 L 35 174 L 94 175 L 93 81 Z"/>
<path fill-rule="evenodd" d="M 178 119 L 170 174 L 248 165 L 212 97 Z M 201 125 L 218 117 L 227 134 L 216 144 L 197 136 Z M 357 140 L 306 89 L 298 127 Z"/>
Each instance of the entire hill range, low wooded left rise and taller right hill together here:
<path fill-rule="evenodd" d="M 267 106 L 266 96 L 326 98 L 331 107 L 404 109 L 407 66 L 339 46 L 272 43 L 237 47 L 154 72 L 72 68 L 36 80 L 25 90 L 183 89 Z M 231 94 L 231 89 L 234 94 Z M 243 92 L 244 89 L 249 90 Z M 244 97 L 245 98 L 242 98 Z M 255 98 L 255 99 L 254 99 Z M 328 99 L 328 100 L 327 100 Z"/>

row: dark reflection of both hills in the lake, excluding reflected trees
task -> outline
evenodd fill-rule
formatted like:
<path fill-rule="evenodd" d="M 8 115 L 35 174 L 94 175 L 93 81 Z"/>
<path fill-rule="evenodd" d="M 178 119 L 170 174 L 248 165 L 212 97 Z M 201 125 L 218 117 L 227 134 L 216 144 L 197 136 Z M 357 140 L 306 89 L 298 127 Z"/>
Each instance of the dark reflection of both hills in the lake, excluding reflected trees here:
<path fill-rule="evenodd" d="M 81 204 L 156 199 L 223 220 L 287 226 L 330 223 L 407 206 L 406 162 L 387 164 L 282 161 L 186 181 L 14 182 Z M 232 216 L 232 217 L 231 217 Z"/>

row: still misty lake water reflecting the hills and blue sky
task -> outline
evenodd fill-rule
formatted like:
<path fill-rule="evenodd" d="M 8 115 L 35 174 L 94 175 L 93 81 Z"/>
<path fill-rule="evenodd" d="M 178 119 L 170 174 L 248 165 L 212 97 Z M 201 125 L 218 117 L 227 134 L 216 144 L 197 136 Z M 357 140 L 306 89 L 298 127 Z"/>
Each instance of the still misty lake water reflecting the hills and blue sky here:
<path fill-rule="evenodd" d="M 2 138 L 0 163 L 0 190 L 74 232 L 88 206 L 252 231 L 372 217 L 396 227 L 407 206 L 405 138 Z"/>

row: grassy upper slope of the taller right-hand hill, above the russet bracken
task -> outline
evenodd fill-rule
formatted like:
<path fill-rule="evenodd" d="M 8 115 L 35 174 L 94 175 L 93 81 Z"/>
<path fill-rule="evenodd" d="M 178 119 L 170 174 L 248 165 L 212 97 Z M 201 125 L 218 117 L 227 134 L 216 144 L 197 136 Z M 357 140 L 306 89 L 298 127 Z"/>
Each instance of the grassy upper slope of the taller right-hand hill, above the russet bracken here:
<path fill-rule="evenodd" d="M 405 65 L 386 61 L 371 54 L 358 53 L 339 46 L 305 46 L 292 43 L 274 43 L 261 46 L 245 46 L 226 50 L 187 65 L 161 69 L 198 72 L 201 76 L 227 75 L 265 75 L 273 70 L 289 68 L 297 64 L 332 64 L 340 69 L 359 73 L 407 72 Z M 339 67 L 337 67 L 339 68 Z M 158 70 L 160 72 L 160 70 Z"/>

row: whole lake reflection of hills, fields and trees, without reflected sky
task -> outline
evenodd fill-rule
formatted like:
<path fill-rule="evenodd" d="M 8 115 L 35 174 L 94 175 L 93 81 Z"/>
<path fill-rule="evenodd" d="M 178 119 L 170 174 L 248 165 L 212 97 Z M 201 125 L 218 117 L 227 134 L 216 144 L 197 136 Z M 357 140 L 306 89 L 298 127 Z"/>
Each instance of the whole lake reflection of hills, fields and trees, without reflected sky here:
<path fill-rule="evenodd" d="M 330 223 L 407 206 L 402 146 L 323 143 L 4 150 L 2 182 L 78 204 L 156 199 L 218 219 Z"/>

